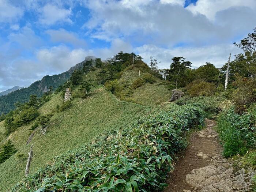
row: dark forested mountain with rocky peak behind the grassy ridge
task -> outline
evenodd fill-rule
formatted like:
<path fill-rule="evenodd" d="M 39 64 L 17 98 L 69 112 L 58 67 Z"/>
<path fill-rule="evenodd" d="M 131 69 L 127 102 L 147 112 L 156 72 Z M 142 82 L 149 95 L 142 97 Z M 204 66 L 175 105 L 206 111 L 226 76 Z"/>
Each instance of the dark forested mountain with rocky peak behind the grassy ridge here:
<path fill-rule="evenodd" d="M 22 103 L 27 102 L 29 100 L 29 96 L 32 94 L 40 97 L 49 90 L 50 86 L 53 87 L 53 90 L 57 89 L 57 87 L 64 84 L 66 80 L 69 79 L 74 70 L 81 69 L 86 61 L 95 58 L 96 57 L 93 56 L 87 56 L 85 57 L 84 61 L 76 64 L 74 67 L 71 67 L 66 72 L 59 75 L 46 75 L 41 80 L 32 83 L 29 87 L 12 91 L 7 95 L 2 95 L 0 97 L 0 115 L 1 113 L 8 113 L 9 111 L 15 109 L 14 103 L 18 101 Z"/>

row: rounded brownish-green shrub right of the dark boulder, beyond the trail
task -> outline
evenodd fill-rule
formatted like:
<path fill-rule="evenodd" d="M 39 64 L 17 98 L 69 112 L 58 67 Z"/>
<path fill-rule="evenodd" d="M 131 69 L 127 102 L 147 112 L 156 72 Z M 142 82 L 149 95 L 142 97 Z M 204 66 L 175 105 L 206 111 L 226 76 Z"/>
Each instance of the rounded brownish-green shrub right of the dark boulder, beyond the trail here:
<path fill-rule="evenodd" d="M 188 93 L 192 97 L 196 96 L 212 96 L 216 92 L 216 86 L 214 83 L 208 82 L 200 82 L 192 86 L 191 89 L 188 90 Z"/>

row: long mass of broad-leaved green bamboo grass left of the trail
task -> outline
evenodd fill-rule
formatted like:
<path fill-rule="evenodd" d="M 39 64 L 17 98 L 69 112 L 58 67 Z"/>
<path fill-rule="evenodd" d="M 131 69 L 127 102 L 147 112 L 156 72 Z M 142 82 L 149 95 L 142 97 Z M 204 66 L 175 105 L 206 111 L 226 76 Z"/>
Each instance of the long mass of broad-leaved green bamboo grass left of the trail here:
<path fill-rule="evenodd" d="M 12 191 L 162 191 L 172 158 L 187 147 L 185 132 L 203 123 L 200 108 L 173 104 L 55 158 Z"/>

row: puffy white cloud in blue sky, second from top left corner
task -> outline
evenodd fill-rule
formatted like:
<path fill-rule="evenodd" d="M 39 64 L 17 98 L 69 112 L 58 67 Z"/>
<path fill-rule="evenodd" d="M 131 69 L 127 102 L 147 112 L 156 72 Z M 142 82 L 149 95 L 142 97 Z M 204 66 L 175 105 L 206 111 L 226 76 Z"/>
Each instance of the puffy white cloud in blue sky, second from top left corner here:
<path fill-rule="evenodd" d="M 39 9 L 41 15 L 39 23 L 43 25 L 54 25 L 56 23 L 72 23 L 70 16 L 72 14 L 71 8 L 59 8 L 56 5 L 46 4 Z"/>

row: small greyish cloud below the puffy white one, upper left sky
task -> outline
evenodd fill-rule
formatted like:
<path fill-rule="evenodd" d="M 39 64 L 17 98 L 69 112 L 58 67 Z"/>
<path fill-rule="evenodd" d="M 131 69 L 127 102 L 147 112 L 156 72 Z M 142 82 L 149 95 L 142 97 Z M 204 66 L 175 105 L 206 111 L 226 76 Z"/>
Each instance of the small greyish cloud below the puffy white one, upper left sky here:
<path fill-rule="evenodd" d="M 86 46 L 84 39 L 80 39 L 76 33 L 66 31 L 65 29 L 47 30 L 46 33 L 50 35 L 50 38 L 53 42 L 69 43 L 75 47 Z"/>

